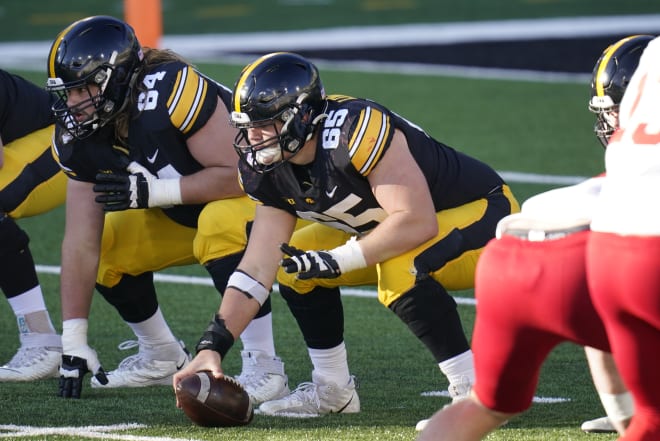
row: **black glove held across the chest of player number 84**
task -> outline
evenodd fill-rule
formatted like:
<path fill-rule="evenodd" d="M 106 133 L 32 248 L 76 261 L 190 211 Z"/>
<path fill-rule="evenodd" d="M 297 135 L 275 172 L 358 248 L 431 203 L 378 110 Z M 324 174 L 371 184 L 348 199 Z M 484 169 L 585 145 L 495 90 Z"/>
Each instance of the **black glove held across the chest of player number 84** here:
<path fill-rule="evenodd" d="M 142 173 L 99 173 L 96 182 L 94 191 L 100 194 L 95 201 L 103 204 L 105 211 L 149 207 L 149 182 Z"/>

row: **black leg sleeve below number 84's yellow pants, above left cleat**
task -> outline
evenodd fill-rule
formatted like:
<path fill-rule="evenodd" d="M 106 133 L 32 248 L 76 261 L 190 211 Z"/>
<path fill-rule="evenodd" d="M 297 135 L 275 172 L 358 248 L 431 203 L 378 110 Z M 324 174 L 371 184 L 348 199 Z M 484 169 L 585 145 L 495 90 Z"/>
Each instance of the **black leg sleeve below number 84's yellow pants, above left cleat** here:
<path fill-rule="evenodd" d="M 114 306 L 121 318 L 129 323 L 143 322 L 158 310 L 158 298 L 154 286 L 154 273 L 138 276 L 124 274 L 118 284 L 109 288 L 96 284 L 105 300 Z"/>

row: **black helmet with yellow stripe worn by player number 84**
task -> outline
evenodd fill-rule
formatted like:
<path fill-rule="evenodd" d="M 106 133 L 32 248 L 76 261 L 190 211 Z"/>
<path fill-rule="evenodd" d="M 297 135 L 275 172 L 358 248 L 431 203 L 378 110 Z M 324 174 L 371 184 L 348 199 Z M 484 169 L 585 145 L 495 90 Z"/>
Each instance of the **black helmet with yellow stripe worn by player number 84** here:
<path fill-rule="evenodd" d="M 109 16 L 88 17 L 64 29 L 48 55 L 46 89 L 58 95 L 53 112 L 72 136 L 85 138 L 121 112 L 144 58 L 133 29 Z M 98 86 L 98 94 L 76 106 L 67 104 L 68 91 Z M 93 110 L 93 112 L 90 112 Z M 80 113 L 93 113 L 84 121 Z"/>

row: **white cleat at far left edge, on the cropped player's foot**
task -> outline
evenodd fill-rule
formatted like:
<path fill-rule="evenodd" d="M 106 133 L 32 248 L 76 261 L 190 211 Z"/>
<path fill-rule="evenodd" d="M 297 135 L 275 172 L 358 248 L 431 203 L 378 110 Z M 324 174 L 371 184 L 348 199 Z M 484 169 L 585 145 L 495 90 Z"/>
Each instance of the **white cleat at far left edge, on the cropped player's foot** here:
<path fill-rule="evenodd" d="M 0 366 L 0 381 L 59 377 L 61 362 L 61 346 L 21 346 L 9 363 Z"/>

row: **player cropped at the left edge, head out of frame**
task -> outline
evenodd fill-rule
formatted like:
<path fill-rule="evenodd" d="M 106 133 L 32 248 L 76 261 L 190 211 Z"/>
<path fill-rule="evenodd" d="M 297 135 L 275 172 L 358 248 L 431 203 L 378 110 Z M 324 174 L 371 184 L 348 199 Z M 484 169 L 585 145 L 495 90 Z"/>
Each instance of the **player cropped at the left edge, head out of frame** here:
<path fill-rule="evenodd" d="M 0 381 L 57 375 L 62 341 L 53 327 L 28 243 L 16 219 L 64 203 L 66 177 L 51 153 L 53 96 L 0 70 L 0 289 L 18 322 L 21 346 Z"/>

